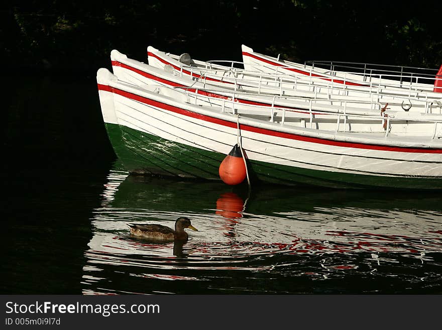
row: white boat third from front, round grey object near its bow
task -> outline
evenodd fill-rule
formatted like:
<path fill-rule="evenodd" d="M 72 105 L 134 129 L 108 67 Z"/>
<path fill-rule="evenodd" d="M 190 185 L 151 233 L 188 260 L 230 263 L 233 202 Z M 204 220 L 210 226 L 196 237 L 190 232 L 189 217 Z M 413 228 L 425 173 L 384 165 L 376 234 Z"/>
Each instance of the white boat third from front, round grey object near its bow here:
<path fill-rule="evenodd" d="M 222 66 L 213 62 L 194 60 L 186 53 L 180 56 L 165 53 L 152 46 L 148 47 L 148 61 L 149 65 L 158 68 L 168 66 L 170 71 L 176 71 L 180 76 L 184 75 L 210 85 L 231 85 L 239 91 L 309 98 L 359 99 L 380 102 L 384 105 L 388 103 L 389 107 L 395 111 L 442 113 L 442 98 L 439 93 L 387 88 L 379 84 L 371 88 L 362 88 L 335 84 L 322 79 L 306 79 L 304 75 L 259 73 L 232 66 Z M 428 96 L 429 94 L 432 98 Z"/>

